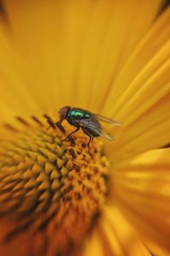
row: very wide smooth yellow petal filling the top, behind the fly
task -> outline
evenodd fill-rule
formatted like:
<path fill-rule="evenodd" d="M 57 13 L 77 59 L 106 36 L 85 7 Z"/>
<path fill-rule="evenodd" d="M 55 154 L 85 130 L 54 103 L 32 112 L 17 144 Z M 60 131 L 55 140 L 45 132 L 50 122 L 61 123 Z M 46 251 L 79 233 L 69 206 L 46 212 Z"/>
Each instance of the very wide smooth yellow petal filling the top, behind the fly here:
<path fill-rule="evenodd" d="M 162 3 L 4 2 L 14 40 L 27 62 L 29 88 L 43 111 L 65 104 L 97 109 L 114 73 L 121 69 Z"/>

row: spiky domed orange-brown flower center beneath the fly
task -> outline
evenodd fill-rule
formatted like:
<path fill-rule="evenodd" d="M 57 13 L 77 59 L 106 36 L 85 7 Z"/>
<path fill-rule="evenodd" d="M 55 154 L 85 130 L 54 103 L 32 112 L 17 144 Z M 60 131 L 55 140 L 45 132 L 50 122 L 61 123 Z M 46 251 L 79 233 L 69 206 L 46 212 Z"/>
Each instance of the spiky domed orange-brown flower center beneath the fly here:
<path fill-rule="evenodd" d="M 46 230 L 55 237 L 55 252 L 66 253 L 80 245 L 99 216 L 109 164 L 99 138 L 90 145 L 92 158 L 82 131 L 62 142 L 62 129 L 47 127 L 28 125 L 1 143 L 0 215 L 12 227 L 4 241 L 27 229 L 34 235 Z M 71 127 L 64 127 L 69 134 Z"/>

